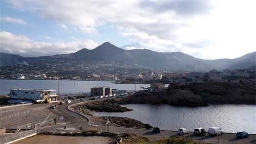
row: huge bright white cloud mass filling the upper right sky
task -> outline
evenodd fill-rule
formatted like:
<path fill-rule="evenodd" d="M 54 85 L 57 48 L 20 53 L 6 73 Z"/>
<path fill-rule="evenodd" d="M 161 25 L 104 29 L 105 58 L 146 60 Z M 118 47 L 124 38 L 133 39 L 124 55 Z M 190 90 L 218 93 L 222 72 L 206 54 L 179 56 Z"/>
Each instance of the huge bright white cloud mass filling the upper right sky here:
<path fill-rule="evenodd" d="M 255 51 L 256 47 L 254 0 L 10 3 L 43 18 L 75 25 L 89 34 L 97 33 L 98 26 L 109 22 L 123 36 L 159 52 L 181 51 L 204 59 L 235 58 Z"/>

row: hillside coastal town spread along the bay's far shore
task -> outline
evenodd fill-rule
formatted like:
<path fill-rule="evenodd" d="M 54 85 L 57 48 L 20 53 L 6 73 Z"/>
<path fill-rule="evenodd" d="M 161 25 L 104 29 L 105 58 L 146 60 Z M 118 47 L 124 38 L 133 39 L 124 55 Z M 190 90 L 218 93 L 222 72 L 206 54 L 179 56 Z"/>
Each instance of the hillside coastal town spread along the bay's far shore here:
<path fill-rule="evenodd" d="M 73 64 L 18 64 L 2 66 L 1 79 L 11 80 L 89 80 L 113 81 L 116 83 L 202 83 L 204 80 L 225 81 L 229 79 L 256 77 L 255 68 L 251 69 L 224 69 L 209 71 L 171 71 L 154 70 L 132 66 L 97 63 Z"/>

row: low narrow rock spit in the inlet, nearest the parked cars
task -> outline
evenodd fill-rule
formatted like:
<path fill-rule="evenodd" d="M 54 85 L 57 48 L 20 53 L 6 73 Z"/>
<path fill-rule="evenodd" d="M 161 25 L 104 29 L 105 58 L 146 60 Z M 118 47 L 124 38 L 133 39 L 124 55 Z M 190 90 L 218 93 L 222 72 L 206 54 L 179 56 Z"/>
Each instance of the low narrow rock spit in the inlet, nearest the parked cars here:
<path fill-rule="evenodd" d="M 136 119 L 128 118 L 128 117 L 118 117 L 118 116 L 101 116 L 99 117 L 103 119 L 104 122 L 110 121 L 111 125 L 119 125 L 124 127 L 134 127 L 134 128 L 145 128 L 151 129 L 153 128 L 150 124 L 144 124 Z"/>

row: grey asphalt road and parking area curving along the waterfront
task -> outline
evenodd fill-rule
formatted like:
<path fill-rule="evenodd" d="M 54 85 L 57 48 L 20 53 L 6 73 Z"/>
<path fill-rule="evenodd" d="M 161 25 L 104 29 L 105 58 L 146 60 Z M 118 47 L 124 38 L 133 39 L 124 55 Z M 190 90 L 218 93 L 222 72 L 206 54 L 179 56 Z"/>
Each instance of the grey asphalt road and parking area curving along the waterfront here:
<path fill-rule="evenodd" d="M 86 101 L 87 99 L 83 99 L 83 101 Z M 29 115 L 27 118 L 27 123 L 32 123 L 32 126 L 34 124 L 40 123 L 42 121 L 46 121 L 48 119 L 52 118 L 58 118 L 59 116 L 64 117 L 64 122 L 61 125 L 54 125 L 54 126 L 46 126 L 39 128 L 39 131 L 54 131 L 56 128 L 63 128 L 63 126 L 66 126 L 67 128 L 72 128 L 74 130 L 72 131 L 80 131 L 79 128 L 82 127 L 83 130 L 92 129 L 93 127 L 88 125 L 88 121 L 83 116 L 76 114 L 74 112 L 71 112 L 68 110 L 68 106 L 74 103 L 80 102 L 79 100 L 72 100 L 72 103 L 65 104 L 65 105 L 58 105 L 56 109 L 49 109 L 49 106 L 53 105 L 51 104 L 38 104 L 38 105 L 28 105 L 24 106 L 22 108 L 15 108 L 15 110 L 11 110 L 11 108 L 8 109 L 1 109 L 0 117 L 2 117 L 0 127 L 9 127 L 9 128 L 15 128 L 16 126 L 24 125 L 26 124 L 26 115 Z M 4 117 L 4 118 L 3 118 Z M 105 127 L 101 126 L 102 130 L 105 131 Z M 155 139 L 161 139 L 164 137 L 169 136 L 178 136 L 176 131 L 161 131 L 159 134 L 154 134 L 152 130 L 146 130 L 146 129 L 135 129 L 135 128 L 125 128 L 125 127 L 110 127 L 110 132 L 129 132 L 129 133 L 135 133 L 137 135 L 146 136 L 148 138 L 151 138 L 153 140 Z M 235 134 L 226 134 L 220 135 L 218 137 L 214 136 L 195 136 L 193 133 L 189 133 L 186 135 L 183 135 L 182 137 L 185 138 L 192 138 L 196 141 L 202 141 L 202 142 L 212 142 L 217 143 L 219 138 L 219 143 L 256 143 L 256 135 L 250 135 L 248 138 L 244 139 L 238 139 L 236 138 Z M 3 136 L 0 136 L 3 137 Z"/>

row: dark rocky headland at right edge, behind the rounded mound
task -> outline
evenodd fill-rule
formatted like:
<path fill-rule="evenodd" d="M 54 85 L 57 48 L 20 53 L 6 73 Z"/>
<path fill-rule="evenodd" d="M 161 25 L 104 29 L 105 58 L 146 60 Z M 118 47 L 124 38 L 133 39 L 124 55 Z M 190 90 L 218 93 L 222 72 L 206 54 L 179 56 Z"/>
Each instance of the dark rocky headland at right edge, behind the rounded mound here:
<path fill-rule="evenodd" d="M 206 82 L 181 88 L 191 90 L 210 104 L 256 104 L 255 82 Z"/>

